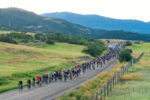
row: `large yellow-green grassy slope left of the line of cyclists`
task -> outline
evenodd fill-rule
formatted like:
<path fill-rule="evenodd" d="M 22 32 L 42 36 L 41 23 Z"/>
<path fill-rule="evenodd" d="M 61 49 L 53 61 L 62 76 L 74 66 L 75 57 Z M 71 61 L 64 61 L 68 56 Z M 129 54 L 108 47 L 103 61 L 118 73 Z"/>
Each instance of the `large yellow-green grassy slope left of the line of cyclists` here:
<path fill-rule="evenodd" d="M 67 43 L 23 46 L 0 42 L 0 92 L 17 87 L 18 80 L 26 83 L 32 76 L 74 65 L 77 58 L 89 56 L 82 53 L 84 48 Z"/>

